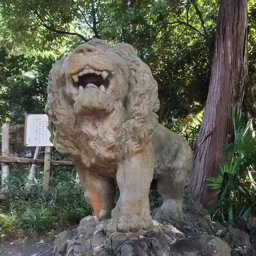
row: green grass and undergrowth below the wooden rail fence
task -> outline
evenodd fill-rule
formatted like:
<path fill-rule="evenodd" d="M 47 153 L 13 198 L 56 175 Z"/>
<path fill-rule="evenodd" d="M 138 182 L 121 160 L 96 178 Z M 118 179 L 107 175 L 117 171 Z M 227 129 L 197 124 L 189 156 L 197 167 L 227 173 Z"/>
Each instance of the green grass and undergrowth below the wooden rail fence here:
<path fill-rule="evenodd" d="M 42 193 L 42 168 L 35 183 L 26 190 L 26 168 L 10 170 L 7 181 L 9 197 L 0 201 L 0 234 L 12 230 L 47 232 L 72 226 L 91 214 L 83 198 L 83 190 L 71 168 L 55 168 L 51 189 Z"/>

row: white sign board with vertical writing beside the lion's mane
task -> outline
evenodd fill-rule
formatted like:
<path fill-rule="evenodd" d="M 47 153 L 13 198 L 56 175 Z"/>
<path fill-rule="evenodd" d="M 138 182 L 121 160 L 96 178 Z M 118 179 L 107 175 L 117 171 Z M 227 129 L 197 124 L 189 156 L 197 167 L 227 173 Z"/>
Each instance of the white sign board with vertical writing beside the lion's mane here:
<path fill-rule="evenodd" d="M 47 126 L 48 116 L 46 114 L 28 114 L 25 124 L 25 145 L 53 146 L 50 141 L 51 133 Z"/>

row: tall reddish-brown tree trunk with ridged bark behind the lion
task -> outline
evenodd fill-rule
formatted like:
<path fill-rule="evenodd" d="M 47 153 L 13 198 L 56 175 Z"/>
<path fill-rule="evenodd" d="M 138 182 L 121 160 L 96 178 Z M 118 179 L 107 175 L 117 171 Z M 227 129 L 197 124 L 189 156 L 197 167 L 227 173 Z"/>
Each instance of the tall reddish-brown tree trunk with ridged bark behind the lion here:
<path fill-rule="evenodd" d="M 239 109 L 247 79 L 247 0 L 221 0 L 211 80 L 194 155 L 189 193 L 201 203 L 212 198 L 206 178 L 217 177 L 233 139 L 232 105 Z"/>

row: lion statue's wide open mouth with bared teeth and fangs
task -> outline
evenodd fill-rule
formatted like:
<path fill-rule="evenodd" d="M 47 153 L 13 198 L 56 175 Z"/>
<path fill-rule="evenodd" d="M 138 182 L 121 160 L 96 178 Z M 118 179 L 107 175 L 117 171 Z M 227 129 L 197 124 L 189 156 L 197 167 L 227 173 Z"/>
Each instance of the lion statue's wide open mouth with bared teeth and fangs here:
<path fill-rule="evenodd" d="M 97 71 L 92 68 L 86 68 L 76 75 L 72 75 L 73 86 L 79 90 L 99 89 L 106 91 L 109 88 L 109 72 Z"/>

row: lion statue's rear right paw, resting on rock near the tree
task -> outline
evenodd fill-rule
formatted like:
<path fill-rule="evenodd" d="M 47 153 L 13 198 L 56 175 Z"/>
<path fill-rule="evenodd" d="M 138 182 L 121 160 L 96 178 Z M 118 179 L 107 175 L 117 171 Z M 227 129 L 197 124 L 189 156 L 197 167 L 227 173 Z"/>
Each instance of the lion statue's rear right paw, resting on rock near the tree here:
<path fill-rule="evenodd" d="M 159 207 L 153 211 L 153 216 L 158 221 L 178 220 L 182 217 L 182 207 Z"/>

